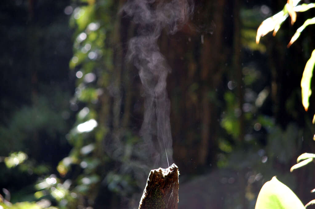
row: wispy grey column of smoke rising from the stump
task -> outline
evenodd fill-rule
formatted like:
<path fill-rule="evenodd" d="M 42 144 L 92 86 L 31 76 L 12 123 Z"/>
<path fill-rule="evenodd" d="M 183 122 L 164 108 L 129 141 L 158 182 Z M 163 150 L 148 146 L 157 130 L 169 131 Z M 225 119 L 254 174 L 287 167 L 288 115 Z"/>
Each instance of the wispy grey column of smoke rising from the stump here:
<path fill-rule="evenodd" d="M 144 89 L 145 112 L 140 135 L 144 148 L 152 154 L 149 160 L 153 168 L 166 168 L 168 162 L 173 163 L 170 101 L 166 91 L 166 79 L 171 69 L 159 50 L 157 39 L 164 28 L 169 34 L 179 30 L 192 10 L 193 5 L 187 0 L 134 0 L 123 7 L 123 11 L 139 25 L 138 36 L 129 41 L 129 59 L 139 70 Z"/>

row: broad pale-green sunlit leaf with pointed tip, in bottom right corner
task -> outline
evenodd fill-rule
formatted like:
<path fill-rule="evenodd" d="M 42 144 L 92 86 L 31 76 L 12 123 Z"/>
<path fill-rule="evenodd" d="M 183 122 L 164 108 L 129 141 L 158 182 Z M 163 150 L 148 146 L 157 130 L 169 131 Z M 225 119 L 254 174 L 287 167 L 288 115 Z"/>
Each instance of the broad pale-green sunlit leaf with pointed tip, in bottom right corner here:
<path fill-rule="evenodd" d="M 305 209 L 301 200 L 275 176 L 261 188 L 255 209 Z"/>

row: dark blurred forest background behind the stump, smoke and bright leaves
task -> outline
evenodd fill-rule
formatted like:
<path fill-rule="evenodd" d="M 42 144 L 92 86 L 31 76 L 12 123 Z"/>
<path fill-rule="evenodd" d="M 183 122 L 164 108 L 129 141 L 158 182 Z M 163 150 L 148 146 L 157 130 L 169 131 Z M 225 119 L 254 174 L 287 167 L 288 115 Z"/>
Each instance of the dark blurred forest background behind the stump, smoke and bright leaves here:
<path fill-rule="evenodd" d="M 120 10 L 125 3 L 0 2 L 5 201 L 138 207 L 155 165 L 139 146 L 143 90 L 126 57 L 139 25 Z M 298 13 L 293 26 L 289 17 L 275 37 L 255 43 L 258 26 L 285 3 L 195 1 L 176 34 L 162 31 L 158 46 L 172 69 L 167 91 L 179 208 L 254 208 L 274 175 L 304 204 L 314 198 L 313 165 L 289 172 L 300 154 L 315 151 L 314 96 L 305 112 L 300 87 L 315 47 L 313 26 L 286 47 L 314 11 Z M 78 131 L 91 119 L 94 129 Z"/>

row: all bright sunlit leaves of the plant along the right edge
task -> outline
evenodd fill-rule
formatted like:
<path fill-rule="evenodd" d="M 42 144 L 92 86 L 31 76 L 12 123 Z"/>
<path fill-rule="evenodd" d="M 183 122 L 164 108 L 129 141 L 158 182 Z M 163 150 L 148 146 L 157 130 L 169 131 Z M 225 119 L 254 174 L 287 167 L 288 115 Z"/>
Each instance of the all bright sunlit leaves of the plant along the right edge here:
<path fill-rule="evenodd" d="M 298 5 L 301 0 L 288 0 L 282 11 L 273 15 L 272 17 L 264 20 L 259 28 L 257 29 L 256 43 L 258 44 L 260 38 L 270 31 L 273 30 L 273 36 L 276 35 L 280 26 L 289 16 L 291 17 L 291 25 L 296 21 L 296 12 L 304 12 L 310 8 L 314 8 L 314 3 L 303 3 Z M 301 32 L 306 28 L 306 26 L 315 24 L 315 18 L 307 19 L 304 24 L 298 28 L 291 38 L 287 47 L 289 48 L 300 36 Z M 311 57 L 306 63 L 303 76 L 301 79 L 301 91 L 302 91 L 302 104 L 305 110 L 309 107 L 309 97 L 311 96 L 311 79 L 313 68 L 315 64 L 315 50 L 312 52 Z M 315 115 L 313 118 L 313 124 L 315 123 Z M 292 128 L 288 130 L 291 130 Z M 289 133 L 289 132 L 288 132 Z M 297 133 L 297 130 L 289 133 L 288 136 Z M 275 147 L 275 146 L 273 146 Z M 277 153 L 277 152 L 275 152 Z M 287 157 L 287 156 L 286 156 Z M 306 164 L 313 161 L 315 154 L 304 153 L 297 158 L 297 164 L 291 167 L 290 172 L 293 170 L 305 166 Z M 314 204 L 315 200 L 310 201 L 305 206 L 303 206 L 301 200 L 294 194 L 292 190 L 289 189 L 285 184 L 278 181 L 276 177 L 273 177 L 270 181 L 266 182 L 258 195 L 255 209 L 293 209 L 293 208 L 306 208 L 307 206 Z"/>

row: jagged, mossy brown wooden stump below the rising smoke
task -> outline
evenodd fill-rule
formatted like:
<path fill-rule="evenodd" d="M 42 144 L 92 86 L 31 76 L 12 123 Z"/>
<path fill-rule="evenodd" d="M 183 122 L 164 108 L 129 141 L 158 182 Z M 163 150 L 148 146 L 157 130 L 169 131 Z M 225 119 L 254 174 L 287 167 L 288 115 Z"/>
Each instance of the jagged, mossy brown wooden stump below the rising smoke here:
<path fill-rule="evenodd" d="M 139 209 L 177 209 L 178 175 L 178 167 L 174 163 L 166 169 L 151 170 Z"/>

